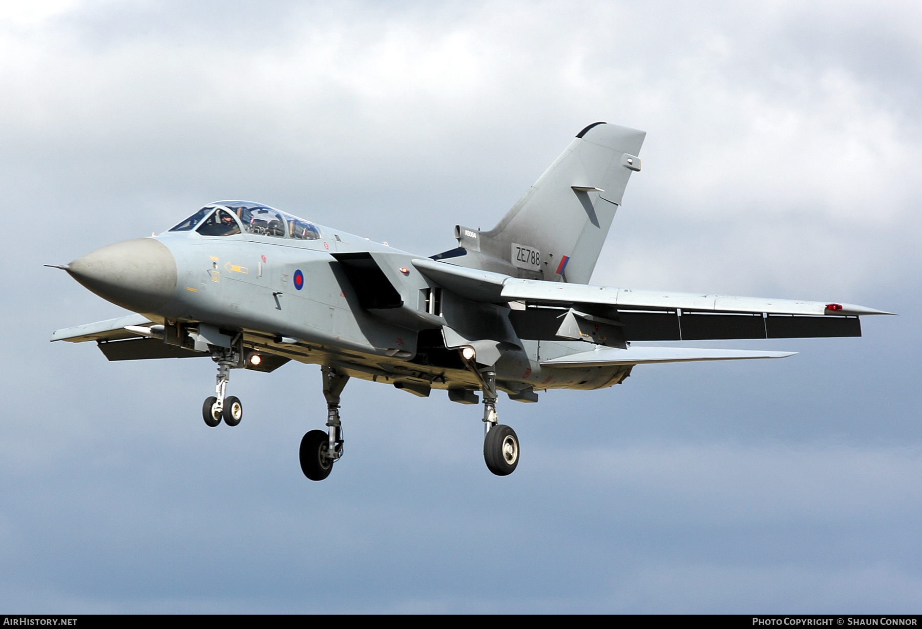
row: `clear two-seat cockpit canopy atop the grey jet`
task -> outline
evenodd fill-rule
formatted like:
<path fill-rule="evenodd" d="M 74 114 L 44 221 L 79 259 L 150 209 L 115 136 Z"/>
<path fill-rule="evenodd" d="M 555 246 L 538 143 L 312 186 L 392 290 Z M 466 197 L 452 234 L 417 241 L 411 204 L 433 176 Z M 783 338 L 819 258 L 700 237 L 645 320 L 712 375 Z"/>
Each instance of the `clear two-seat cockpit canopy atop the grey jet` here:
<path fill-rule="evenodd" d="M 250 201 L 208 204 L 170 231 L 192 230 L 203 236 L 232 236 L 243 232 L 297 240 L 320 238 L 320 231 L 310 221 Z"/>

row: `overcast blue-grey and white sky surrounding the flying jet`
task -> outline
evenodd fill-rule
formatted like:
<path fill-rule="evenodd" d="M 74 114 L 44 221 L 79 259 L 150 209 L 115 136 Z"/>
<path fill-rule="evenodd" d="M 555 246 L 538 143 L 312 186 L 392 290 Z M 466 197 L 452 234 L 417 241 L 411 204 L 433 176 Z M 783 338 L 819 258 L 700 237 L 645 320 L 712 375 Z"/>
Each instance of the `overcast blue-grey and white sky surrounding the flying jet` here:
<path fill-rule="evenodd" d="M 888 3 L 0 3 L 0 608 L 919 611 L 922 8 Z M 647 131 L 593 282 L 860 303 L 863 338 L 704 343 L 481 410 L 319 368 L 106 362 L 64 273 L 209 201 L 432 255 L 582 127 Z"/>

